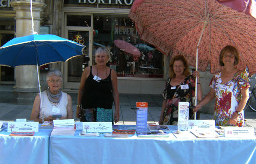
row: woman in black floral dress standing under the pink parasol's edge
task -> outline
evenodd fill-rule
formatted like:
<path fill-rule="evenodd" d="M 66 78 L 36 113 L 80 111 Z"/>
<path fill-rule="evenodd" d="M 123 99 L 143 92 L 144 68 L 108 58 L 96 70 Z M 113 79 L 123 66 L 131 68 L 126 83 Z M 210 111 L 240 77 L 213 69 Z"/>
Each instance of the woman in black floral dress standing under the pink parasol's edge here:
<path fill-rule="evenodd" d="M 196 78 L 198 83 L 196 84 Z M 198 85 L 198 99 L 202 100 L 202 88 L 198 71 L 190 75 L 188 63 L 184 56 L 175 56 L 169 64 L 169 78 L 163 91 L 162 112 L 159 125 L 177 125 L 179 102 L 190 102 L 190 96 L 195 96 L 195 86 Z M 190 89 L 189 89 L 190 88 Z M 190 91 L 189 91 L 190 90 Z"/>

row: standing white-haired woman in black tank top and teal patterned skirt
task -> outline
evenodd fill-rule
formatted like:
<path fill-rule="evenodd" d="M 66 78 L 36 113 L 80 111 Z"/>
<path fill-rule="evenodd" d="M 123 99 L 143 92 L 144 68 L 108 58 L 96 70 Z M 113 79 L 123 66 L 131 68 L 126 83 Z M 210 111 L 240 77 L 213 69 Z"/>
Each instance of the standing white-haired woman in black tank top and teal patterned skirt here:
<path fill-rule="evenodd" d="M 106 63 L 110 52 L 100 47 L 95 52 L 96 65 L 84 69 L 77 98 L 76 117 L 81 122 L 119 121 L 119 93 L 116 72 Z M 112 105 L 115 104 L 113 116 Z M 114 121 L 114 122 L 113 122 Z"/>

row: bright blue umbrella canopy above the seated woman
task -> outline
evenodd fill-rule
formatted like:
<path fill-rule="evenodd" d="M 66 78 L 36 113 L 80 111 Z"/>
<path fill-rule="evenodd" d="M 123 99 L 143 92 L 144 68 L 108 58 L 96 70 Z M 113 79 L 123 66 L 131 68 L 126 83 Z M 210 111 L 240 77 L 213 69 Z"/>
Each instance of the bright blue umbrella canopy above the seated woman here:
<path fill-rule="evenodd" d="M 0 65 L 44 65 L 82 55 L 83 45 L 56 35 L 28 35 L 8 41 L 0 48 Z"/>

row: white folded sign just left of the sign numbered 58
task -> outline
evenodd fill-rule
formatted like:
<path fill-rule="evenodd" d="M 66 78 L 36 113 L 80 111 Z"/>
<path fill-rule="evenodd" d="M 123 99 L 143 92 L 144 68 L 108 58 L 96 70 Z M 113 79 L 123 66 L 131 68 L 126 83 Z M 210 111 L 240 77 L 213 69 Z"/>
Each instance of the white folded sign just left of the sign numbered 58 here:
<path fill-rule="evenodd" d="M 215 121 L 214 120 L 188 120 L 188 129 L 214 130 Z"/>

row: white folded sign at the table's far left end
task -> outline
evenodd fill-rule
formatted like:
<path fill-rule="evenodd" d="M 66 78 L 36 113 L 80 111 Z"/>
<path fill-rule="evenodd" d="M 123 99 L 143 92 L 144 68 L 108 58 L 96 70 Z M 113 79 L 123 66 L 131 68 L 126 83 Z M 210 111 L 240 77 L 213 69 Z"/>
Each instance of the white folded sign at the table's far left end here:
<path fill-rule="evenodd" d="M 39 122 L 8 122 L 8 132 L 38 132 Z"/>

